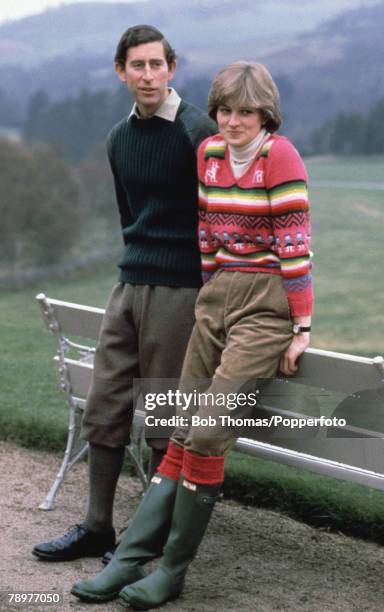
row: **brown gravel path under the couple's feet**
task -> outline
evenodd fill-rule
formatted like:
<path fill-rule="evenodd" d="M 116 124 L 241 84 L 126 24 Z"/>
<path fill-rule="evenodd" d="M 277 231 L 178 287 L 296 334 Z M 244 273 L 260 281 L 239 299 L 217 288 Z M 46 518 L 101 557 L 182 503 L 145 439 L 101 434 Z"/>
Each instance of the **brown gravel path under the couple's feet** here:
<path fill-rule="evenodd" d="M 98 559 L 44 563 L 33 558 L 34 543 L 64 533 L 79 522 L 86 504 L 86 466 L 75 467 L 56 507 L 37 506 L 59 465 L 56 455 L 2 443 L 0 449 L 0 590 L 57 591 L 56 608 L 12 606 L 3 610 L 122 611 L 117 603 L 82 604 L 69 594 L 73 582 L 101 568 Z M 140 499 L 138 482 L 122 477 L 116 503 L 121 528 Z M 363 611 L 384 609 L 384 551 L 375 544 L 319 531 L 283 515 L 217 504 L 197 560 L 179 600 L 169 612 L 186 611 Z"/>

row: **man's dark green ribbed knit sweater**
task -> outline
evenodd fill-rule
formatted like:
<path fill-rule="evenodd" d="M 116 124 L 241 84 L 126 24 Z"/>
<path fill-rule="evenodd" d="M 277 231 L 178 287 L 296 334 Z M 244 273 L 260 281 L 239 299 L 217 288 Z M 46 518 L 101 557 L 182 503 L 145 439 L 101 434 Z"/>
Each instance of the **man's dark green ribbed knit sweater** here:
<path fill-rule="evenodd" d="M 217 131 L 184 101 L 174 122 L 132 115 L 107 141 L 125 249 L 124 283 L 199 287 L 196 151 Z"/>

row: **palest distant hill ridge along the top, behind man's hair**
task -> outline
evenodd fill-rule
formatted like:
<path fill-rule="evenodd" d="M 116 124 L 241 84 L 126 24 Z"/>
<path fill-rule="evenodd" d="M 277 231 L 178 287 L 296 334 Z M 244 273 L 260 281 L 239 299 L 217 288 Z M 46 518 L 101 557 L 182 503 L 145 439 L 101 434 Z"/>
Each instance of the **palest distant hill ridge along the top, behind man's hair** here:
<path fill-rule="evenodd" d="M 38 65 L 53 57 L 110 55 L 122 30 L 134 23 L 153 23 L 172 43 L 192 49 L 220 48 L 242 52 L 262 41 L 269 47 L 283 36 L 309 31 L 326 19 L 355 5 L 375 0 L 137 0 L 132 3 L 78 3 L 0 26 L 0 64 Z M 106 35 L 106 24 L 108 34 Z M 281 41 L 280 41 L 281 42 Z M 284 45 L 286 40 L 284 41 Z M 207 61 L 210 61 L 207 58 Z M 226 61 L 226 60 L 224 60 Z"/>

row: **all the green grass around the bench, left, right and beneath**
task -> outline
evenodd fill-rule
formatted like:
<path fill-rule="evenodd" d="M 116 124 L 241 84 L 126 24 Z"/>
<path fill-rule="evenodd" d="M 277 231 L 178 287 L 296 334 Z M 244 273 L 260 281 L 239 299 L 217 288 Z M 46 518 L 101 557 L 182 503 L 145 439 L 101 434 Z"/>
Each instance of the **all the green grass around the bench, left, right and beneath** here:
<path fill-rule="evenodd" d="M 366 183 L 382 181 L 384 176 L 384 158 L 370 163 L 327 157 L 308 160 L 307 166 L 314 181 L 352 178 Z M 312 345 L 366 356 L 384 354 L 383 192 L 366 185 L 361 190 L 356 185 L 350 190 L 314 186 L 310 195 L 316 291 Z M 111 263 L 65 280 L 0 293 L 3 439 L 52 450 L 62 449 L 65 440 L 65 400 L 57 389 L 52 364 L 55 342 L 43 328 L 35 295 L 44 292 L 102 307 L 115 278 Z M 239 474 L 241 482 L 236 484 Z M 338 528 L 342 523 L 350 525 L 352 532 L 384 535 L 383 498 L 376 491 L 244 457 L 233 458 L 226 487 L 234 496 L 311 522 L 321 516 L 323 522 Z"/>

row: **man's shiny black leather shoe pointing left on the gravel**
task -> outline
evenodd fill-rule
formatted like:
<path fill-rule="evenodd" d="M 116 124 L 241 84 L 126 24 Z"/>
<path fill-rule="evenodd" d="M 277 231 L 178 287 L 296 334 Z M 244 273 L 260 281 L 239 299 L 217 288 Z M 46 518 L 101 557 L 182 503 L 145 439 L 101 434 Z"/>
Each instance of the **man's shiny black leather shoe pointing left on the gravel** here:
<path fill-rule="evenodd" d="M 32 553 L 44 561 L 71 561 L 81 557 L 101 557 L 114 547 L 115 530 L 97 533 L 85 525 L 75 525 L 57 540 L 37 544 Z"/>

